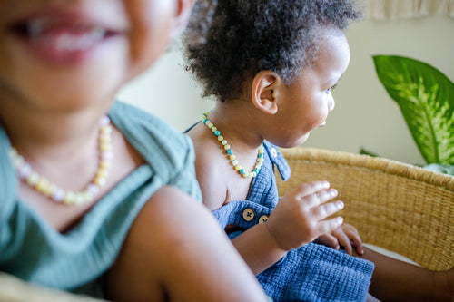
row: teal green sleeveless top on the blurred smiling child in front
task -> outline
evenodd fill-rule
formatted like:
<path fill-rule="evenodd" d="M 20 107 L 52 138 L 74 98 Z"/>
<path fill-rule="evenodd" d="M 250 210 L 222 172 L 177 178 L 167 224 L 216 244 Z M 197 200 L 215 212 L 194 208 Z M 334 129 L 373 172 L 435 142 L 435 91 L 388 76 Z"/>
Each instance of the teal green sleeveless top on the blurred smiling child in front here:
<path fill-rule="evenodd" d="M 191 140 L 165 122 L 122 102 L 109 117 L 146 164 L 99 200 L 70 231 L 61 234 L 21 200 L 11 148 L 0 125 L 0 270 L 18 278 L 104 297 L 103 274 L 117 257 L 143 204 L 165 185 L 202 200 Z M 76 152 L 76 151 L 74 151 Z"/>

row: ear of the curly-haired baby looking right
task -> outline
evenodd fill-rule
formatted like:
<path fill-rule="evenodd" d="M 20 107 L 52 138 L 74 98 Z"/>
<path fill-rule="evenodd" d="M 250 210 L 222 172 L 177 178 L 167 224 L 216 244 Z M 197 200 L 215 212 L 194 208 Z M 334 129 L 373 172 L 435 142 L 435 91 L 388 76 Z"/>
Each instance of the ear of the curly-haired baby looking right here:
<path fill-rule="evenodd" d="M 278 112 L 278 98 L 281 89 L 281 77 L 265 70 L 255 74 L 252 80 L 252 103 L 262 112 Z"/>

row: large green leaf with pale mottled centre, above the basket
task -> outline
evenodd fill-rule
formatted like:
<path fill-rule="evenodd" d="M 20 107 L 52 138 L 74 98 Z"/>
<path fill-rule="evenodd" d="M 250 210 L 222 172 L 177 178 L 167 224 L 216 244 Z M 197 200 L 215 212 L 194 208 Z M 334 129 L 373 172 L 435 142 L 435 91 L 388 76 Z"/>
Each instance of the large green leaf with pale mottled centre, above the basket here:
<path fill-rule="evenodd" d="M 373 60 L 425 161 L 453 165 L 454 83 L 418 60 L 396 55 L 374 55 Z"/>

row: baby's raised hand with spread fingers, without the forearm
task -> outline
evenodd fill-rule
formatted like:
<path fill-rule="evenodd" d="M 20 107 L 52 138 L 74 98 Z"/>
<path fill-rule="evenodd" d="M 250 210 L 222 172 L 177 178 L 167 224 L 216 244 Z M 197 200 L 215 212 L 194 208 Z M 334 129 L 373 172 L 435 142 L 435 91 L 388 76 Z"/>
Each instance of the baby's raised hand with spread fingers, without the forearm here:
<path fill-rule="evenodd" d="M 266 225 L 282 249 L 299 248 L 341 226 L 341 217 L 324 220 L 343 208 L 342 201 L 326 203 L 337 196 L 329 188 L 327 181 L 305 183 L 278 202 Z"/>

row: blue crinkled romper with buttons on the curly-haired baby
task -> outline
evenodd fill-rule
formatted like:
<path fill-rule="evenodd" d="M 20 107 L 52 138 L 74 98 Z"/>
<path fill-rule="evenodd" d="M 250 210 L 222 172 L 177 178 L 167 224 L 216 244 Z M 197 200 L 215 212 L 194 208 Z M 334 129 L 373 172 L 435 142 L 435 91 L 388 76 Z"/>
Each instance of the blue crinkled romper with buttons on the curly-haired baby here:
<path fill-rule="evenodd" d="M 276 146 L 267 141 L 263 144 L 263 166 L 252 180 L 247 200 L 229 202 L 212 212 L 222 228 L 235 225 L 249 229 L 268 219 L 279 200 L 274 166 L 283 180 L 290 177 L 290 167 Z M 257 278 L 274 301 L 364 301 L 373 268 L 368 260 L 310 243 L 289 251 Z"/>

